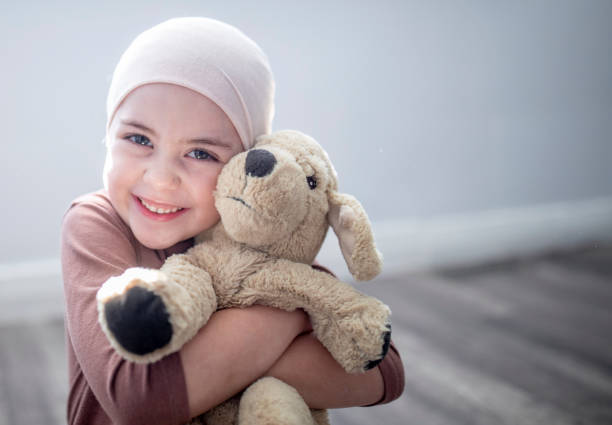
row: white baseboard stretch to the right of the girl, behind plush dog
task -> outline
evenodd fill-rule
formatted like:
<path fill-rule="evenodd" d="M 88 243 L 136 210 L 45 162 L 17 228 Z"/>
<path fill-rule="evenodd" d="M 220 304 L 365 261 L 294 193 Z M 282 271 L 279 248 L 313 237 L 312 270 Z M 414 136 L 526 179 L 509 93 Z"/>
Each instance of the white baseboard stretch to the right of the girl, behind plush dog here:
<path fill-rule="evenodd" d="M 612 198 L 479 211 L 372 224 L 383 275 L 481 264 L 555 249 L 612 242 Z M 350 275 L 330 232 L 318 257 Z"/>

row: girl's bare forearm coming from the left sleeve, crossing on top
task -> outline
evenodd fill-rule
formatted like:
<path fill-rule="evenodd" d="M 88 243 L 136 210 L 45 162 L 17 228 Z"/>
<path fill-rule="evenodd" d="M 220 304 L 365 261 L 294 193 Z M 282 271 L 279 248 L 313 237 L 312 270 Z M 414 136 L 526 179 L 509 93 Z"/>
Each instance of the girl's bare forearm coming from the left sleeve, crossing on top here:
<path fill-rule="evenodd" d="M 210 410 L 264 375 L 309 328 L 300 310 L 255 305 L 214 313 L 181 350 L 190 415 Z"/>

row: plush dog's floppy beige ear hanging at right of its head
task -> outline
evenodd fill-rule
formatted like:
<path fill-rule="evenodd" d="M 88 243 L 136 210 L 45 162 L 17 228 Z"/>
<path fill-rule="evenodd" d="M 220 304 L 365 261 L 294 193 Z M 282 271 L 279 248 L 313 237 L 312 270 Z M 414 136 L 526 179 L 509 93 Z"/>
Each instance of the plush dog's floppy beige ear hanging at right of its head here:
<path fill-rule="evenodd" d="M 340 241 L 340 250 L 356 280 L 370 280 L 382 269 L 382 255 L 376 249 L 368 216 L 351 195 L 329 192 L 329 224 Z"/>

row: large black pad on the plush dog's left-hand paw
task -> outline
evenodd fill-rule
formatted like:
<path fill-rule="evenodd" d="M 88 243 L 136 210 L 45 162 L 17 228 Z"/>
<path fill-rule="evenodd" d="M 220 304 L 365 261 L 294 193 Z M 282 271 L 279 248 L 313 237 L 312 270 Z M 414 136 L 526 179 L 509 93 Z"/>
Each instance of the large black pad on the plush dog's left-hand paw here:
<path fill-rule="evenodd" d="M 109 330 L 123 348 L 147 354 L 172 339 L 170 316 L 155 293 L 135 286 L 125 296 L 109 301 L 104 309 Z"/>

